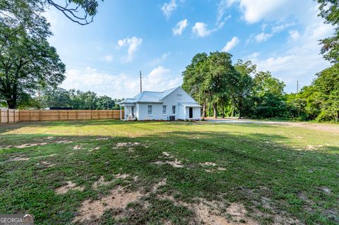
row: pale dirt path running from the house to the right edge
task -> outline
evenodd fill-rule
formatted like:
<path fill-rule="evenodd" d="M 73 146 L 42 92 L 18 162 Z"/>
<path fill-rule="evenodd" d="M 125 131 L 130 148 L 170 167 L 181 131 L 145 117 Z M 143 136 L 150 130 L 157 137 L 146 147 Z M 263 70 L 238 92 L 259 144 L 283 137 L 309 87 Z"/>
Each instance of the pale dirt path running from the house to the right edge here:
<path fill-rule="evenodd" d="M 238 118 L 206 118 L 206 121 L 213 123 L 257 123 L 257 124 L 270 124 L 280 126 L 294 126 L 309 128 L 314 130 L 324 130 L 332 133 L 339 133 L 338 124 L 329 123 L 310 123 L 310 122 L 289 122 L 289 121 L 256 121 L 251 119 L 238 119 Z"/>

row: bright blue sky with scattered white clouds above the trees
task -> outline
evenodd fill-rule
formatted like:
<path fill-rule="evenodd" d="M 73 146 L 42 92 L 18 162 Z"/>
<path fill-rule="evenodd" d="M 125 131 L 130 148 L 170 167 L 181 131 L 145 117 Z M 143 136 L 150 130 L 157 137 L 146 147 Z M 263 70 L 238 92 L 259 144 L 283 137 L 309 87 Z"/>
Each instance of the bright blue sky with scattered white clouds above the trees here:
<path fill-rule="evenodd" d="M 60 0 L 60 3 L 64 1 Z M 66 89 L 131 97 L 182 85 L 182 71 L 199 52 L 228 51 L 270 71 L 295 92 L 328 67 L 318 40 L 333 33 L 311 0 L 157 0 L 100 3 L 90 25 L 50 8 L 50 43 L 66 64 Z"/>

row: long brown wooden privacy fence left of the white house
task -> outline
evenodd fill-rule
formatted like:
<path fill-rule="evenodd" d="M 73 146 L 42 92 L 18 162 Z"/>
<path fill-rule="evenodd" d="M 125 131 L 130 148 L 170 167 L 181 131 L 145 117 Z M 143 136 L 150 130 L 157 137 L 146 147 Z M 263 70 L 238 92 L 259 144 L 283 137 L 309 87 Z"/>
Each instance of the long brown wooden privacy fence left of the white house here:
<path fill-rule="evenodd" d="M 120 110 L 16 110 L 1 109 L 0 123 L 19 121 L 67 121 L 82 119 L 120 119 Z M 121 111 L 124 118 L 124 110 Z"/>

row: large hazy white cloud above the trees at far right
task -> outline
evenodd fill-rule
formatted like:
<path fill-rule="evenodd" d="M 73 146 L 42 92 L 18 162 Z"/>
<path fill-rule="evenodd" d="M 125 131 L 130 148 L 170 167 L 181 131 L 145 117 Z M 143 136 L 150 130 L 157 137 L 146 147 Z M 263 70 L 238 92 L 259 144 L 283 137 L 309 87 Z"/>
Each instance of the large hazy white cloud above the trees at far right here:
<path fill-rule="evenodd" d="M 305 12 L 305 19 L 301 18 L 307 23 L 304 29 L 290 31 L 290 39 L 283 43 L 287 49 L 284 48 L 270 56 L 251 58 L 258 65 L 258 70 L 271 71 L 273 75 L 283 80 L 287 85 L 287 92 L 295 91 L 297 80 L 301 85 L 309 85 L 316 73 L 329 66 L 319 54 L 321 49 L 319 39 L 331 35 L 333 27 L 324 24 L 323 20 L 317 17 L 318 13 L 319 10 L 314 3 L 314 7 Z"/>

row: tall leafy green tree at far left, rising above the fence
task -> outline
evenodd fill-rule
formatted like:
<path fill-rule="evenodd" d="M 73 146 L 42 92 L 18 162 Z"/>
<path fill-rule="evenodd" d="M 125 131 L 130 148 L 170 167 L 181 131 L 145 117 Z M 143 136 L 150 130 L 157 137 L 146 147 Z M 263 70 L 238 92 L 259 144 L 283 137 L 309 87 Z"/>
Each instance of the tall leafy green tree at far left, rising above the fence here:
<path fill-rule="evenodd" d="M 47 42 L 52 33 L 46 19 L 32 8 L 17 13 L 0 17 L 0 97 L 11 109 L 16 109 L 18 99 L 59 85 L 65 72 L 56 49 Z"/>

